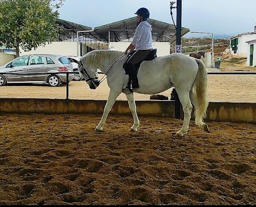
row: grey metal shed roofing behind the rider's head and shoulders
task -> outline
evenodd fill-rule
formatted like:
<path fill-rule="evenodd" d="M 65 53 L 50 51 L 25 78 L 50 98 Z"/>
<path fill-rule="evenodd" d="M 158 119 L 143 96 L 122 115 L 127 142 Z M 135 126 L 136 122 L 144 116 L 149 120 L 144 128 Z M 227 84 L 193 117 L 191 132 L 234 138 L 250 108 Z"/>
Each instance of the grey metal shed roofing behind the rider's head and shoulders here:
<path fill-rule="evenodd" d="M 153 41 L 173 43 L 176 40 L 176 28 L 173 24 L 164 23 L 162 21 L 157 21 L 150 18 L 148 19 L 148 22 L 152 26 Z M 57 23 L 63 26 L 63 28 L 75 34 L 77 34 L 77 31 L 93 30 L 87 33 L 81 32 L 80 36 L 86 36 L 87 38 L 91 38 L 93 40 L 99 40 L 108 43 L 109 36 L 111 42 L 124 41 L 132 38 L 137 27 L 137 18 L 135 16 L 128 19 L 123 19 L 121 21 L 116 21 L 114 23 L 97 26 L 95 28 L 71 23 L 70 21 L 65 21 L 63 19 L 58 19 Z M 181 28 L 181 36 L 188 32 L 188 28 Z M 68 38 L 68 33 L 66 33 L 63 38 Z M 70 35 L 74 35 L 72 33 Z"/>

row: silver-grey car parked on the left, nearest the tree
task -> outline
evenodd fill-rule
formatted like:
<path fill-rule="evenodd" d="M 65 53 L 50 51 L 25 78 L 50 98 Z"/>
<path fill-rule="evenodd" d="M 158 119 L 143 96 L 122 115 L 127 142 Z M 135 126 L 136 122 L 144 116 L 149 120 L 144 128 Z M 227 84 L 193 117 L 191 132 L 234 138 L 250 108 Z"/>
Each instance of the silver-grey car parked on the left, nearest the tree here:
<path fill-rule="evenodd" d="M 24 55 L 0 66 L 0 86 L 7 83 L 28 82 L 48 83 L 51 87 L 58 87 L 61 83 L 67 83 L 67 74 L 51 74 L 56 72 L 73 72 L 72 64 L 66 56 L 50 54 Z M 73 77 L 73 73 L 68 74 L 69 80 L 73 80 Z"/>

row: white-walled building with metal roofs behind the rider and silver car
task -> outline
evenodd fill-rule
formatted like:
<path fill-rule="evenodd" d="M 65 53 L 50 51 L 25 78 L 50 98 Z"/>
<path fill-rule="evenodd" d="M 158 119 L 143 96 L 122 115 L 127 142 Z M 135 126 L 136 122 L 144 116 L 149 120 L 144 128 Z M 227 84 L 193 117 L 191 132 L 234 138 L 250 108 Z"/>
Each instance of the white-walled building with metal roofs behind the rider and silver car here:
<path fill-rule="evenodd" d="M 155 19 L 148 19 L 152 25 L 153 46 L 157 48 L 157 56 L 169 55 L 170 45 L 176 41 L 176 28 L 173 24 L 164 23 Z M 35 53 L 53 53 L 58 55 L 83 56 L 88 51 L 101 49 L 101 45 L 107 45 L 106 49 L 125 51 L 131 43 L 137 27 L 136 16 L 123 19 L 110 24 L 91 28 L 81 24 L 58 19 L 60 30 L 56 41 L 39 46 L 36 50 L 24 51 L 20 48 L 20 55 Z M 181 28 L 181 36 L 188 33 L 188 28 Z"/>

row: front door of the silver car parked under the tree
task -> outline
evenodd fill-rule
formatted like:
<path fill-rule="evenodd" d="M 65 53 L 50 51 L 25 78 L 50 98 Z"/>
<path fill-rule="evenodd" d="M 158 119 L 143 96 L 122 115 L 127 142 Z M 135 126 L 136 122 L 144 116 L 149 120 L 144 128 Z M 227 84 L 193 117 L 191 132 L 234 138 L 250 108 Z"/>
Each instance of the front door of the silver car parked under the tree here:
<path fill-rule="evenodd" d="M 9 63 L 6 68 L 8 73 L 8 82 L 24 82 L 28 80 L 27 77 L 27 66 L 29 62 L 29 56 L 22 56 L 16 58 L 11 63 Z M 13 73 L 13 74 L 12 74 Z"/>

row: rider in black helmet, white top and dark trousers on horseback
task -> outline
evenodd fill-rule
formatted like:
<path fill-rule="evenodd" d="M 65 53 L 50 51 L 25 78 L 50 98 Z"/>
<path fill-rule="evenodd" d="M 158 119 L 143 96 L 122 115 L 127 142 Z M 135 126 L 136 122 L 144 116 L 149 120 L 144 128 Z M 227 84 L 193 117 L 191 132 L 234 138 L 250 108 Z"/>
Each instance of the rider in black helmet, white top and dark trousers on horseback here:
<path fill-rule="evenodd" d="M 149 10 L 146 8 L 140 8 L 135 14 L 137 14 L 137 23 L 139 23 L 139 25 L 136 28 L 132 43 L 124 52 L 127 54 L 128 51 L 131 52 L 135 50 L 124 68 L 125 72 L 129 74 L 129 81 L 127 84 L 127 88 L 129 89 L 131 89 L 131 83 L 132 88 L 139 88 L 137 72 L 134 65 L 144 60 L 144 58 L 146 58 L 146 56 L 153 50 L 151 34 L 152 28 L 151 24 L 147 22 L 147 19 L 149 18 Z"/>

